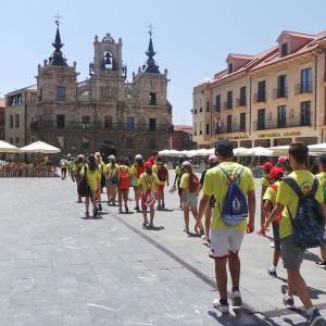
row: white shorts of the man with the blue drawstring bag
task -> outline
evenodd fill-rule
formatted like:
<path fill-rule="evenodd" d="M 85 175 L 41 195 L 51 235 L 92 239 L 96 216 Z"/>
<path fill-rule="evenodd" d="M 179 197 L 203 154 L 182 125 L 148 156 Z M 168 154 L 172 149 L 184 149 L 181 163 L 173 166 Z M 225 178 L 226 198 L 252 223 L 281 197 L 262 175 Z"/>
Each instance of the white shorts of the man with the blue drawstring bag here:
<path fill-rule="evenodd" d="M 210 258 L 227 258 L 229 253 L 238 253 L 241 248 L 244 231 L 234 229 L 211 230 L 211 251 Z"/>

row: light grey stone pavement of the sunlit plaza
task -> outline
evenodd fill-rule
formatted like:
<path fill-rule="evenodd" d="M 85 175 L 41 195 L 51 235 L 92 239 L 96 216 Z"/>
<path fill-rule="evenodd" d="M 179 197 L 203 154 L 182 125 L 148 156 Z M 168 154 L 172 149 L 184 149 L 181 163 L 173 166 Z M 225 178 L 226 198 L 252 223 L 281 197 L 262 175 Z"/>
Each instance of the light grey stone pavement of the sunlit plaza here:
<path fill-rule="evenodd" d="M 272 250 L 256 235 L 241 250 L 244 308 L 229 316 L 212 309 L 213 262 L 199 238 L 181 231 L 176 193 L 167 193 L 168 211 L 156 212 L 156 229 L 146 230 L 140 214 L 105 204 L 102 218 L 83 218 L 70 180 L 0 179 L 0 189 L 1 326 L 304 325 L 283 309 L 285 272 L 267 276 Z M 306 254 L 303 276 L 326 313 L 316 259 L 316 250 Z"/>

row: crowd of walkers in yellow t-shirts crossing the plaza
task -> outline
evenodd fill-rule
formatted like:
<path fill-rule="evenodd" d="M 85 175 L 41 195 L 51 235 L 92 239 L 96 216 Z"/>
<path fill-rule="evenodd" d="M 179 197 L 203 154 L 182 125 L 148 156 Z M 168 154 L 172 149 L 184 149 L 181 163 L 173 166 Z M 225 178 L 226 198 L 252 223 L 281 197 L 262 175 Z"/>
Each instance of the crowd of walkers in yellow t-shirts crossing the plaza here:
<path fill-rule="evenodd" d="M 128 213 L 129 189 L 135 192 L 135 211 L 142 213 L 142 227 L 154 226 L 156 210 L 165 209 L 165 186 L 170 185 L 167 165 L 153 153 L 148 160 L 137 154 L 129 159 L 110 155 L 104 163 L 101 154 L 78 155 L 76 160 L 61 162 L 62 178 L 71 175 L 76 183 L 78 202 L 85 198 L 86 216 L 97 218 L 102 211 L 101 193 L 108 196 L 108 205 L 117 205 L 120 213 Z M 316 266 L 326 268 L 326 155 L 318 158 L 318 173 L 308 168 L 309 150 L 302 142 L 289 147 L 288 156 L 277 162 L 266 161 L 262 166 L 261 218 L 259 236 L 273 228 L 273 256 L 268 275 L 277 276 L 277 265 L 283 261 L 287 271 L 288 288 L 283 302 L 294 309 L 296 294 L 306 310 L 308 325 L 316 326 L 323 317 L 312 304 L 309 288 L 301 275 L 304 253 L 319 248 L 321 260 Z M 215 263 L 220 298 L 213 301 L 222 313 L 229 312 L 227 297 L 227 266 L 231 279 L 231 305 L 240 308 L 239 251 L 246 234 L 254 231 L 256 191 L 252 172 L 235 161 L 233 146 L 227 140 L 216 145 L 215 155 L 208 160 L 208 167 L 199 178 L 192 164 L 180 159 L 170 188 L 177 190 L 184 213 L 186 234 L 190 234 L 190 212 L 193 230 L 210 247 Z M 202 218 L 204 217 L 204 224 Z"/>

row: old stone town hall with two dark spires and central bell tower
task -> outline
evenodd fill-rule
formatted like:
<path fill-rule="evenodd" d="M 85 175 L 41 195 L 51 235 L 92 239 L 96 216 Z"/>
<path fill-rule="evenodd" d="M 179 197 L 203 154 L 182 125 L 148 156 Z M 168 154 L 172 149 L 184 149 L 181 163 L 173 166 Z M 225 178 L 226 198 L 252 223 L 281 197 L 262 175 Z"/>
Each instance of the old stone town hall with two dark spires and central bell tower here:
<path fill-rule="evenodd" d="M 95 37 L 89 78 L 83 82 L 76 62 L 68 65 L 61 51 L 59 26 L 52 45 L 53 54 L 38 65 L 35 89 L 7 95 L 8 141 L 21 146 L 43 140 L 72 154 L 101 150 L 148 155 L 168 147 L 173 125 L 167 70 L 161 73 L 153 59 L 151 33 L 147 63 L 133 73 L 131 82 L 123 65 L 122 40 L 110 34 Z"/>

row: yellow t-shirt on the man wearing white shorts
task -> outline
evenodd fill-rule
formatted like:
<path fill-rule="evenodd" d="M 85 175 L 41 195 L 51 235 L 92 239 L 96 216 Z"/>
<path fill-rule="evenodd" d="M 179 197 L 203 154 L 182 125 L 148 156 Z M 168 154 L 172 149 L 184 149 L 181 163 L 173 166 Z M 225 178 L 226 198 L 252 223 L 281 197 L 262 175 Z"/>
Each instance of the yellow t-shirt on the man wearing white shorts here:
<path fill-rule="evenodd" d="M 239 181 L 239 187 L 242 192 L 247 196 L 249 191 L 254 190 L 254 180 L 251 174 L 251 171 L 242 166 L 236 162 L 224 162 L 221 163 L 218 166 L 210 168 L 206 172 L 204 184 L 203 184 L 203 193 L 205 196 L 214 196 L 215 198 L 215 206 L 213 209 L 213 216 L 212 216 L 212 230 L 217 229 L 234 229 L 244 231 L 247 229 L 247 221 L 243 220 L 240 224 L 236 226 L 226 225 L 223 220 L 221 218 L 221 210 L 223 209 L 225 196 L 228 189 L 228 180 L 224 172 L 220 168 L 222 167 L 227 174 L 241 173 L 241 178 Z"/>

